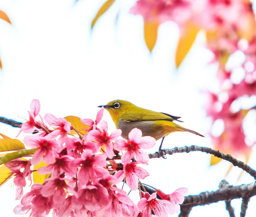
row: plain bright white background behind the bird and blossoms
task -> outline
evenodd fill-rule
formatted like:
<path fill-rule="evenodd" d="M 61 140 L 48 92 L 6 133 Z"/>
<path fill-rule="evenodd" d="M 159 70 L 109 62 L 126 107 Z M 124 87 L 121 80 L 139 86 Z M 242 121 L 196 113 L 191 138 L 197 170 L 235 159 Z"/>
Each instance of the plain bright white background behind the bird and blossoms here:
<path fill-rule="evenodd" d="M 175 47 L 179 31 L 174 23 L 159 28 L 157 44 L 149 53 L 143 40 L 143 20 L 129 14 L 134 0 L 119 0 L 90 31 L 90 22 L 103 0 L 1 0 L 13 26 L 0 20 L 0 116 L 24 121 L 30 102 L 40 100 L 41 115 L 56 117 L 75 115 L 95 118 L 97 106 L 111 100 L 128 100 L 137 106 L 181 116 L 182 126 L 204 134 L 176 132 L 166 137 L 163 148 L 175 146 L 211 146 L 210 120 L 206 118 L 204 89 L 214 89 L 216 67 L 207 67 L 211 54 L 199 42 L 186 60 L 175 70 Z M 119 11 L 121 11 L 119 13 Z M 108 112 L 104 113 L 109 131 L 115 126 Z M 17 128 L 0 124 L 0 132 L 16 137 Z M 23 140 L 25 134 L 18 139 Z M 160 143 L 158 141 L 157 143 Z M 148 151 L 157 151 L 158 145 Z M 256 168 L 256 154 L 249 165 Z M 165 193 L 179 187 L 189 194 L 214 191 L 222 179 L 231 185 L 251 183 L 253 178 L 222 161 L 209 166 L 210 155 L 195 152 L 152 159 L 144 166 L 150 173 L 143 182 Z M 12 180 L 0 188 L 1 216 L 12 217 L 15 201 Z M 131 197 L 139 200 L 136 191 Z M 252 198 L 246 217 L 254 217 L 256 198 Z M 241 200 L 231 202 L 236 216 Z M 189 217 L 229 216 L 225 203 L 219 202 L 192 209 Z M 175 216 L 175 215 L 173 215 Z M 177 216 L 177 215 L 176 215 Z"/>

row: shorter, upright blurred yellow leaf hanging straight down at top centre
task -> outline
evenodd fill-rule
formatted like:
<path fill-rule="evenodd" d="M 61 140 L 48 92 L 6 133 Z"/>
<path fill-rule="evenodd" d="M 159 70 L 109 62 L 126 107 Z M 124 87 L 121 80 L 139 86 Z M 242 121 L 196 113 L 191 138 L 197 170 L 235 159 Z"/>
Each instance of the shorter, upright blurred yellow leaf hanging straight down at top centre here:
<path fill-rule="evenodd" d="M 157 42 L 158 26 L 158 22 L 147 22 L 144 20 L 144 39 L 150 52 L 153 50 Z"/>

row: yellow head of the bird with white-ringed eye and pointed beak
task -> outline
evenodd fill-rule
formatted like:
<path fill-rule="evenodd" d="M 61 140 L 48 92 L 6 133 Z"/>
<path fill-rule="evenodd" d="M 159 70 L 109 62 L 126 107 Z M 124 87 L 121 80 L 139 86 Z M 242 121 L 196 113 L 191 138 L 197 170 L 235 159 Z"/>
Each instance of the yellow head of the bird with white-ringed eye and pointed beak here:
<path fill-rule="evenodd" d="M 98 106 L 98 107 L 102 107 L 102 106 Z M 132 104 L 128 101 L 113 100 L 103 107 L 109 112 L 113 121 L 116 124 L 119 117 L 121 117 L 123 114 L 125 114 L 125 112 L 133 109 L 135 106 L 134 106 L 134 104 Z"/>

